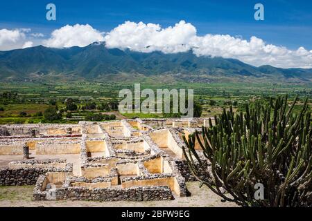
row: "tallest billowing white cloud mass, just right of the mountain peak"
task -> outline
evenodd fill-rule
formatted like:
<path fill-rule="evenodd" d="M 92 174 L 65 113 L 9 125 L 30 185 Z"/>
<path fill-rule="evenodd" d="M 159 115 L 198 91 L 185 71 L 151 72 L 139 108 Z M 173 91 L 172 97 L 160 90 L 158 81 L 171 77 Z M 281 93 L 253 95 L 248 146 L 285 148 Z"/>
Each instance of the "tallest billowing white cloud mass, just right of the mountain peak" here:
<path fill-rule="evenodd" d="M 125 21 L 105 36 L 107 48 L 131 48 L 140 52 L 160 50 L 165 53 L 189 50 L 189 41 L 196 36 L 191 23 L 180 21 L 162 29 L 154 23 Z"/>

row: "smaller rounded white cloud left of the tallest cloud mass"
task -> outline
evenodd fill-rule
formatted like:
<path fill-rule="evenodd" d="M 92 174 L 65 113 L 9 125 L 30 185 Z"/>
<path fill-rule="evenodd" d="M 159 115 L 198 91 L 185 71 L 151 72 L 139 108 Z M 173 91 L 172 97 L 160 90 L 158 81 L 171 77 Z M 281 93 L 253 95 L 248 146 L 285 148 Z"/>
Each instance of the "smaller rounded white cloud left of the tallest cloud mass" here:
<path fill-rule="evenodd" d="M 76 24 L 74 26 L 67 25 L 54 30 L 51 34 L 51 38 L 43 41 L 43 44 L 51 48 L 84 47 L 88 44 L 92 44 L 94 41 L 103 40 L 103 34 L 92 28 L 92 26 L 88 24 Z"/>

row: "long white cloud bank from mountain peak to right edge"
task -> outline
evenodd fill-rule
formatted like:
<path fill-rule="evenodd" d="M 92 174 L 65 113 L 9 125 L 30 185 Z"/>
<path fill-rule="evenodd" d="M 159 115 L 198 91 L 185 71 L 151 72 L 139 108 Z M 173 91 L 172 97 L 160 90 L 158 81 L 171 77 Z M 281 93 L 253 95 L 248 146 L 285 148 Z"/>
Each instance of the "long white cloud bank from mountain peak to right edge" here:
<path fill-rule="evenodd" d="M 192 49 L 197 56 L 234 58 L 254 66 L 270 64 L 281 68 L 312 68 L 312 50 L 303 47 L 289 50 L 266 44 L 254 36 L 249 40 L 230 35 L 198 36 L 196 28 L 185 21 L 168 28 L 155 23 L 125 21 L 108 32 L 105 41 L 107 48 L 130 48 L 139 52 L 159 50 L 164 53 Z"/>

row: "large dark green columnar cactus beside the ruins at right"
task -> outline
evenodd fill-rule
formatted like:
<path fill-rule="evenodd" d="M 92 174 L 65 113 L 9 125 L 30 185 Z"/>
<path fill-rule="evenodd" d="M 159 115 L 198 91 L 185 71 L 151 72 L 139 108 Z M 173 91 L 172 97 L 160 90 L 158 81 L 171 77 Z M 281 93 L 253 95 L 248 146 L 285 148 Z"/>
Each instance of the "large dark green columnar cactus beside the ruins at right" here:
<path fill-rule="evenodd" d="M 267 105 L 246 104 L 245 113 L 224 109 L 214 117 L 214 126 L 209 120 L 201 133 L 184 137 L 184 156 L 193 175 L 241 206 L 311 206 L 311 113 L 308 99 L 294 113 L 296 102 L 297 97 L 288 106 L 285 96 L 271 98 Z M 205 157 L 196 151 L 196 140 Z M 202 174 L 204 159 L 211 162 L 207 174 Z M 263 184 L 263 200 L 254 198 L 257 183 Z"/>

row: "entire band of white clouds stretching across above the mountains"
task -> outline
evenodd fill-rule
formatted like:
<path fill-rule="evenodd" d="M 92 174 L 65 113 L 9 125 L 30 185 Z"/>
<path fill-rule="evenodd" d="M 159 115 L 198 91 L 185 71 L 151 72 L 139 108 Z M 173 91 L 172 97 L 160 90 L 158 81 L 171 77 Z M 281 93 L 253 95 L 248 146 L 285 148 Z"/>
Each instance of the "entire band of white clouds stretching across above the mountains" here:
<path fill-rule="evenodd" d="M 94 41 L 105 41 L 107 48 L 130 48 L 139 52 L 158 50 L 164 53 L 193 50 L 197 56 L 234 58 L 254 66 L 270 64 L 281 68 L 312 68 L 311 49 L 300 47 L 290 50 L 267 44 L 258 37 L 243 39 L 241 36 L 230 35 L 199 36 L 196 27 L 185 21 L 167 28 L 155 23 L 125 21 L 105 34 L 88 24 L 67 25 L 54 30 L 49 39 L 42 41 L 42 37 L 42 33 L 31 33 L 29 28 L 1 29 L 0 50 L 26 48 L 37 44 L 53 48 L 83 47 Z"/>

